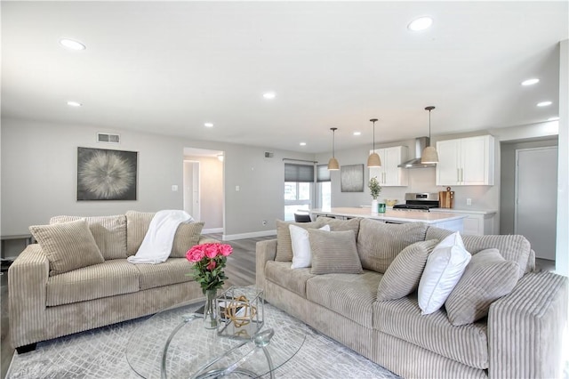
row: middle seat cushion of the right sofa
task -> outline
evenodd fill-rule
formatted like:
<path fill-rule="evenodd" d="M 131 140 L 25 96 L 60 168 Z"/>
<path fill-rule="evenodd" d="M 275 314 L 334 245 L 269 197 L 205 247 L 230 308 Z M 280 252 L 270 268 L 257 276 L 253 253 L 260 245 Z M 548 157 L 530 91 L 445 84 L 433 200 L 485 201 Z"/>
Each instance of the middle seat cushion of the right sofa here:
<path fill-rule="evenodd" d="M 359 325 L 371 328 L 372 304 L 381 277 L 381 274 L 367 270 L 361 275 L 318 275 L 307 281 L 306 297 Z"/>

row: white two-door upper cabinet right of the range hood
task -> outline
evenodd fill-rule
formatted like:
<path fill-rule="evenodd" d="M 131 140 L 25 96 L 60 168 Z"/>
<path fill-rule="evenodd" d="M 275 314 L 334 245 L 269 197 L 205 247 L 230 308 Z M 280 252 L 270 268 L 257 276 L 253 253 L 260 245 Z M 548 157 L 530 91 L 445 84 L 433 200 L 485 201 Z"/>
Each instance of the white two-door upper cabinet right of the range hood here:
<path fill-rule="evenodd" d="M 494 184 L 492 135 L 437 141 L 437 186 Z"/>

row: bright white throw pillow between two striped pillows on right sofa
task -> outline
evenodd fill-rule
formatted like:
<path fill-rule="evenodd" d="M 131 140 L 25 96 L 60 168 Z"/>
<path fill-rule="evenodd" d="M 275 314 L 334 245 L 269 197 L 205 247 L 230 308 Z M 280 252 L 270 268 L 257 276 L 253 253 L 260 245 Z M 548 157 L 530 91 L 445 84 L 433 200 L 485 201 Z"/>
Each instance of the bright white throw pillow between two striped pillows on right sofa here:
<path fill-rule="evenodd" d="M 427 258 L 419 282 L 419 307 L 428 315 L 443 306 L 453 292 L 472 255 L 464 248 L 457 231 L 443 239 Z"/>

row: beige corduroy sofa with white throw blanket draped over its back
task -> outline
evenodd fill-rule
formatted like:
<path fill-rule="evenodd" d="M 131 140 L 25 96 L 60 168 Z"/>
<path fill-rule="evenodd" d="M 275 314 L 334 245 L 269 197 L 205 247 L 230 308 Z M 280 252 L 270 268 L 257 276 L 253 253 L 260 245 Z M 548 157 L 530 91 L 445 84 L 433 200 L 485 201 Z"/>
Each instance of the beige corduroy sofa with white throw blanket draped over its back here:
<path fill-rule="evenodd" d="M 34 350 L 41 341 L 139 318 L 202 297 L 200 286 L 187 276 L 191 266 L 184 254 L 191 246 L 213 241 L 201 236 L 204 222 L 180 224 L 166 262 L 127 262 L 140 247 L 153 216 L 129 211 L 114 216 L 53 217 L 47 227 L 81 228 L 84 220 L 104 262 L 54 275 L 54 262 L 41 244 L 27 246 L 8 270 L 13 347 L 20 353 Z"/>

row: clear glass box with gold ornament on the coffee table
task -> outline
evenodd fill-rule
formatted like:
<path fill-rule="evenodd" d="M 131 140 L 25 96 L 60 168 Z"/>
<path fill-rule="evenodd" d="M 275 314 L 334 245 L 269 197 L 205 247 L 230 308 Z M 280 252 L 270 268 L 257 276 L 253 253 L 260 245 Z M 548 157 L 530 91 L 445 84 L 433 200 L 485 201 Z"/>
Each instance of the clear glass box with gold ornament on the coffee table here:
<path fill-rule="evenodd" d="M 263 326 L 262 291 L 254 286 L 232 286 L 217 298 L 221 315 L 218 335 L 251 339 Z"/>

